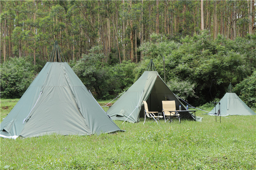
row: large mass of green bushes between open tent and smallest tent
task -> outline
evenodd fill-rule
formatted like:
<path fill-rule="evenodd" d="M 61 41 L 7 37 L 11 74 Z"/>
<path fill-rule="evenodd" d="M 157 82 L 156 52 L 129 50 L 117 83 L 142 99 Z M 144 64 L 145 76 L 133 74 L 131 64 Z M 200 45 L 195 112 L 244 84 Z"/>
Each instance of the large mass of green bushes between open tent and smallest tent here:
<path fill-rule="evenodd" d="M 223 97 L 229 82 L 237 84 L 255 69 L 256 41 L 252 37 L 231 41 L 218 35 L 212 40 L 207 31 L 186 36 L 181 43 L 159 35 L 151 37 L 151 43 L 140 46 L 145 59 L 153 58 L 154 63 L 159 63 L 156 69 L 164 78 L 164 56 L 169 87 L 196 106 Z"/>

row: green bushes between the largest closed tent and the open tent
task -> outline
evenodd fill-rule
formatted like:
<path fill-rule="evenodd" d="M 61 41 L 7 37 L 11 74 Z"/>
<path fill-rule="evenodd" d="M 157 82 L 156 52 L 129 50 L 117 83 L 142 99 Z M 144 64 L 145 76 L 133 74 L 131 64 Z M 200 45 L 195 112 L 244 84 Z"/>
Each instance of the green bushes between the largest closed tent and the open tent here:
<path fill-rule="evenodd" d="M 94 93 L 97 99 L 111 99 L 130 87 L 134 80 L 133 69 L 136 64 L 123 62 L 109 66 L 100 52 L 102 46 L 95 46 L 88 55 L 76 63 L 71 61 L 72 69 L 84 85 Z"/>

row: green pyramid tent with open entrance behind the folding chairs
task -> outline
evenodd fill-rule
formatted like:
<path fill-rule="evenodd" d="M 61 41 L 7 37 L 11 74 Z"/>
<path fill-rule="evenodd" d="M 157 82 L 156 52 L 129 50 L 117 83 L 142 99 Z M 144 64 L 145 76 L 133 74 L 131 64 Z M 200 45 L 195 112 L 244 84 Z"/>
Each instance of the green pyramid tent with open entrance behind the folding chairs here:
<path fill-rule="evenodd" d="M 182 110 L 186 110 L 159 76 L 152 60 L 146 70 L 108 109 L 107 113 L 112 120 L 139 122 L 139 118 L 144 116 L 143 100 L 147 102 L 149 111 L 162 112 L 163 100 L 175 100 L 176 110 L 179 110 L 180 105 Z M 183 117 L 194 119 L 188 112 L 182 114 Z"/>

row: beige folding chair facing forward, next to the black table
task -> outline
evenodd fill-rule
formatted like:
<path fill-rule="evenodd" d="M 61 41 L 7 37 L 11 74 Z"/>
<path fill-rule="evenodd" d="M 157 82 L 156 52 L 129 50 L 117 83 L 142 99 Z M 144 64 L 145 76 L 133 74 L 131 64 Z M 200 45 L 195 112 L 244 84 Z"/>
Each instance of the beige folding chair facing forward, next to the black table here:
<path fill-rule="evenodd" d="M 178 114 L 176 111 L 176 105 L 175 105 L 175 101 L 162 101 L 163 104 L 163 114 L 164 114 L 164 121 L 166 122 L 165 117 L 167 118 L 167 120 L 170 120 L 170 122 L 172 122 L 172 120 L 174 118 L 179 118 L 180 121 L 180 114 Z M 173 112 L 170 112 L 173 111 Z"/>

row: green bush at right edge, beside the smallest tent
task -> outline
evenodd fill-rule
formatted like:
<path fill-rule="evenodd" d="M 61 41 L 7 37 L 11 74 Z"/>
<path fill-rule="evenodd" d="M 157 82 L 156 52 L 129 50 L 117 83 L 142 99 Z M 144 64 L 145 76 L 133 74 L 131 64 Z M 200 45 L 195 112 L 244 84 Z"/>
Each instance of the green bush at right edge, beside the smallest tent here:
<path fill-rule="evenodd" d="M 233 91 L 239 94 L 247 106 L 256 108 L 256 70 L 251 76 L 236 84 Z"/>

